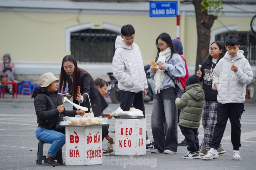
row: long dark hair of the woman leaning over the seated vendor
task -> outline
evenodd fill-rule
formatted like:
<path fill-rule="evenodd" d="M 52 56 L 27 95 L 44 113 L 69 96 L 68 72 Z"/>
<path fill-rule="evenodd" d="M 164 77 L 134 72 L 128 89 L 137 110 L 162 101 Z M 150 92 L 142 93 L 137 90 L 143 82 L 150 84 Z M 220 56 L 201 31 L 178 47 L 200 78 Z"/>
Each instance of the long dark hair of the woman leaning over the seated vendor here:
<path fill-rule="evenodd" d="M 87 71 L 80 69 L 77 67 L 77 62 L 74 56 L 72 55 L 67 55 L 63 58 L 62 60 L 62 64 L 61 64 L 61 75 L 60 75 L 60 87 L 59 87 L 59 93 L 61 91 L 65 91 L 66 89 L 66 84 L 67 84 L 67 77 L 69 76 L 66 71 L 64 70 L 63 64 L 66 61 L 70 61 L 74 64 L 74 73 L 72 74 L 73 77 L 73 81 L 71 84 L 71 89 L 69 89 L 69 91 L 72 93 L 73 99 L 76 98 L 76 93 L 77 93 L 77 87 L 78 87 L 78 82 L 79 82 L 79 72 L 86 72 Z M 89 74 L 89 73 L 88 73 Z M 91 77 L 91 75 L 89 74 L 89 76 Z"/>

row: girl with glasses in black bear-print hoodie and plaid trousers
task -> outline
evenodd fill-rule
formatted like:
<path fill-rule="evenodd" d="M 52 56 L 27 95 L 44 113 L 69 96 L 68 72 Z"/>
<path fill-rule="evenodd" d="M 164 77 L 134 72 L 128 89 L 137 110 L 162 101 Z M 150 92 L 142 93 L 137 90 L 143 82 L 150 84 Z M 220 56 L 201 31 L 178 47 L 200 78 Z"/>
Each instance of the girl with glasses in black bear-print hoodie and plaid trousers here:
<path fill-rule="evenodd" d="M 202 63 L 202 67 L 196 72 L 200 82 L 203 81 L 203 91 L 205 94 L 204 107 L 202 113 L 202 125 L 204 129 L 204 137 L 201 143 L 200 155 L 204 156 L 211 148 L 212 134 L 217 123 L 217 90 L 212 90 L 213 69 L 219 60 L 225 55 L 225 45 L 221 41 L 214 41 L 209 48 L 210 54 Z M 220 144 L 218 154 L 223 154 L 226 151 L 223 145 Z"/>

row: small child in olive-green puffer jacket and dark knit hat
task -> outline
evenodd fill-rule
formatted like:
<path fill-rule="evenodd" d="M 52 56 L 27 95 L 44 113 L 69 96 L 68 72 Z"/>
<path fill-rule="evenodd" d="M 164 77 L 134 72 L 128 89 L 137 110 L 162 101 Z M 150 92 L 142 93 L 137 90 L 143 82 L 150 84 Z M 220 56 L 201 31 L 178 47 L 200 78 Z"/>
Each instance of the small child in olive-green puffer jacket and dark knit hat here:
<path fill-rule="evenodd" d="M 189 152 L 184 159 L 201 158 L 198 140 L 198 128 L 204 106 L 204 91 L 199 84 L 199 77 L 193 74 L 186 80 L 186 91 L 181 98 L 176 98 L 175 104 L 181 109 L 179 125 L 184 127 L 184 136 L 189 144 Z"/>

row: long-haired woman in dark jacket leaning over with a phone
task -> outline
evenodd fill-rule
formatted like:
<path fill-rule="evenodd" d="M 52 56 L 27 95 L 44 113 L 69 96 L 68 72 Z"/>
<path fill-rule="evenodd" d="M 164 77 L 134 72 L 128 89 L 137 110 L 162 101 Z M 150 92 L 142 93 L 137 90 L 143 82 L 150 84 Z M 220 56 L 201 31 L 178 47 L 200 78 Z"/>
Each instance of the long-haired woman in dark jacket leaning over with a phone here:
<path fill-rule="evenodd" d="M 64 93 L 66 83 L 68 84 L 67 97 L 71 98 L 73 96 L 74 103 L 88 108 L 89 112 L 89 95 L 94 117 L 102 116 L 110 119 L 110 113 L 103 113 L 103 110 L 108 107 L 107 101 L 95 85 L 91 75 L 87 71 L 77 67 L 76 59 L 72 55 L 67 55 L 62 60 L 59 92 Z M 78 86 L 80 86 L 81 89 L 80 92 L 77 93 Z M 73 107 L 73 110 L 76 110 L 76 108 Z M 108 136 L 108 127 L 109 126 L 102 126 L 102 140 L 105 137 L 109 143 L 113 143 L 113 139 Z"/>

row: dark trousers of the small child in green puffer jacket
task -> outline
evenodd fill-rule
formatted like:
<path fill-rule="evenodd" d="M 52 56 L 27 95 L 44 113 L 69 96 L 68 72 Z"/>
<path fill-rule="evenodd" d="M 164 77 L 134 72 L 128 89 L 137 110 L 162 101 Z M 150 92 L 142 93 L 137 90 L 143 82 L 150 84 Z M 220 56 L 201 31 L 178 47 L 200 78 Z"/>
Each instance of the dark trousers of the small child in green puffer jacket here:
<path fill-rule="evenodd" d="M 186 142 L 188 143 L 188 151 L 191 152 L 197 152 L 200 150 L 199 146 L 199 140 L 198 140 L 198 129 L 192 129 L 192 128 L 187 128 L 183 127 L 184 130 L 184 136 L 186 139 Z"/>

